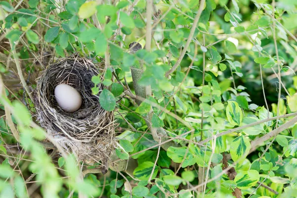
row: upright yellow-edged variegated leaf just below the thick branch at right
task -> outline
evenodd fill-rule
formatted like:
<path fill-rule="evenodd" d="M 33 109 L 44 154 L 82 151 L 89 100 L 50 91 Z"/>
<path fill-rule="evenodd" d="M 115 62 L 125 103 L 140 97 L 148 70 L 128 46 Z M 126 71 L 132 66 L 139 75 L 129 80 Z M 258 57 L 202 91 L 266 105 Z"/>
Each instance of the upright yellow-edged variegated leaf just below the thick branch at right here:
<path fill-rule="evenodd" d="M 230 146 L 231 158 L 234 162 L 243 162 L 250 150 L 250 143 L 247 138 L 240 136 L 233 140 Z"/>

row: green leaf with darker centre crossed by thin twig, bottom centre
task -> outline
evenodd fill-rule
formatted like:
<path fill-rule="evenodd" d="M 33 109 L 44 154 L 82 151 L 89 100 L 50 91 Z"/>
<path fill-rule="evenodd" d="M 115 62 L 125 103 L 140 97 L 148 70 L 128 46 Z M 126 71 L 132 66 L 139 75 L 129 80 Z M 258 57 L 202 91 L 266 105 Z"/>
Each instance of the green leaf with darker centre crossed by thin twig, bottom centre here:
<path fill-rule="evenodd" d="M 140 180 L 148 180 L 152 172 L 154 163 L 151 161 L 146 161 L 138 165 L 138 167 L 133 171 L 133 175 Z M 156 166 L 151 179 L 154 179 L 158 174 L 158 167 Z"/>

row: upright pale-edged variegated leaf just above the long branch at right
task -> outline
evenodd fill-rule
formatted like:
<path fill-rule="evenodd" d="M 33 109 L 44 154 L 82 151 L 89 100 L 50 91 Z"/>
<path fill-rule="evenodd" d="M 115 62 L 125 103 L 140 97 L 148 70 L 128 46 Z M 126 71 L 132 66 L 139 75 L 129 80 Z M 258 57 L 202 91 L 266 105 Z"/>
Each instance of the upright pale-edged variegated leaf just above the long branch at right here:
<path fill-rule="evenodd" d="M 243 112 L 239 107 L 238 103 L 235 101 L 228 101 L 228 105 L 226 107 L 226 115 L 227 119 L 232 125 L 240 125 L 243 120 Z"/>

